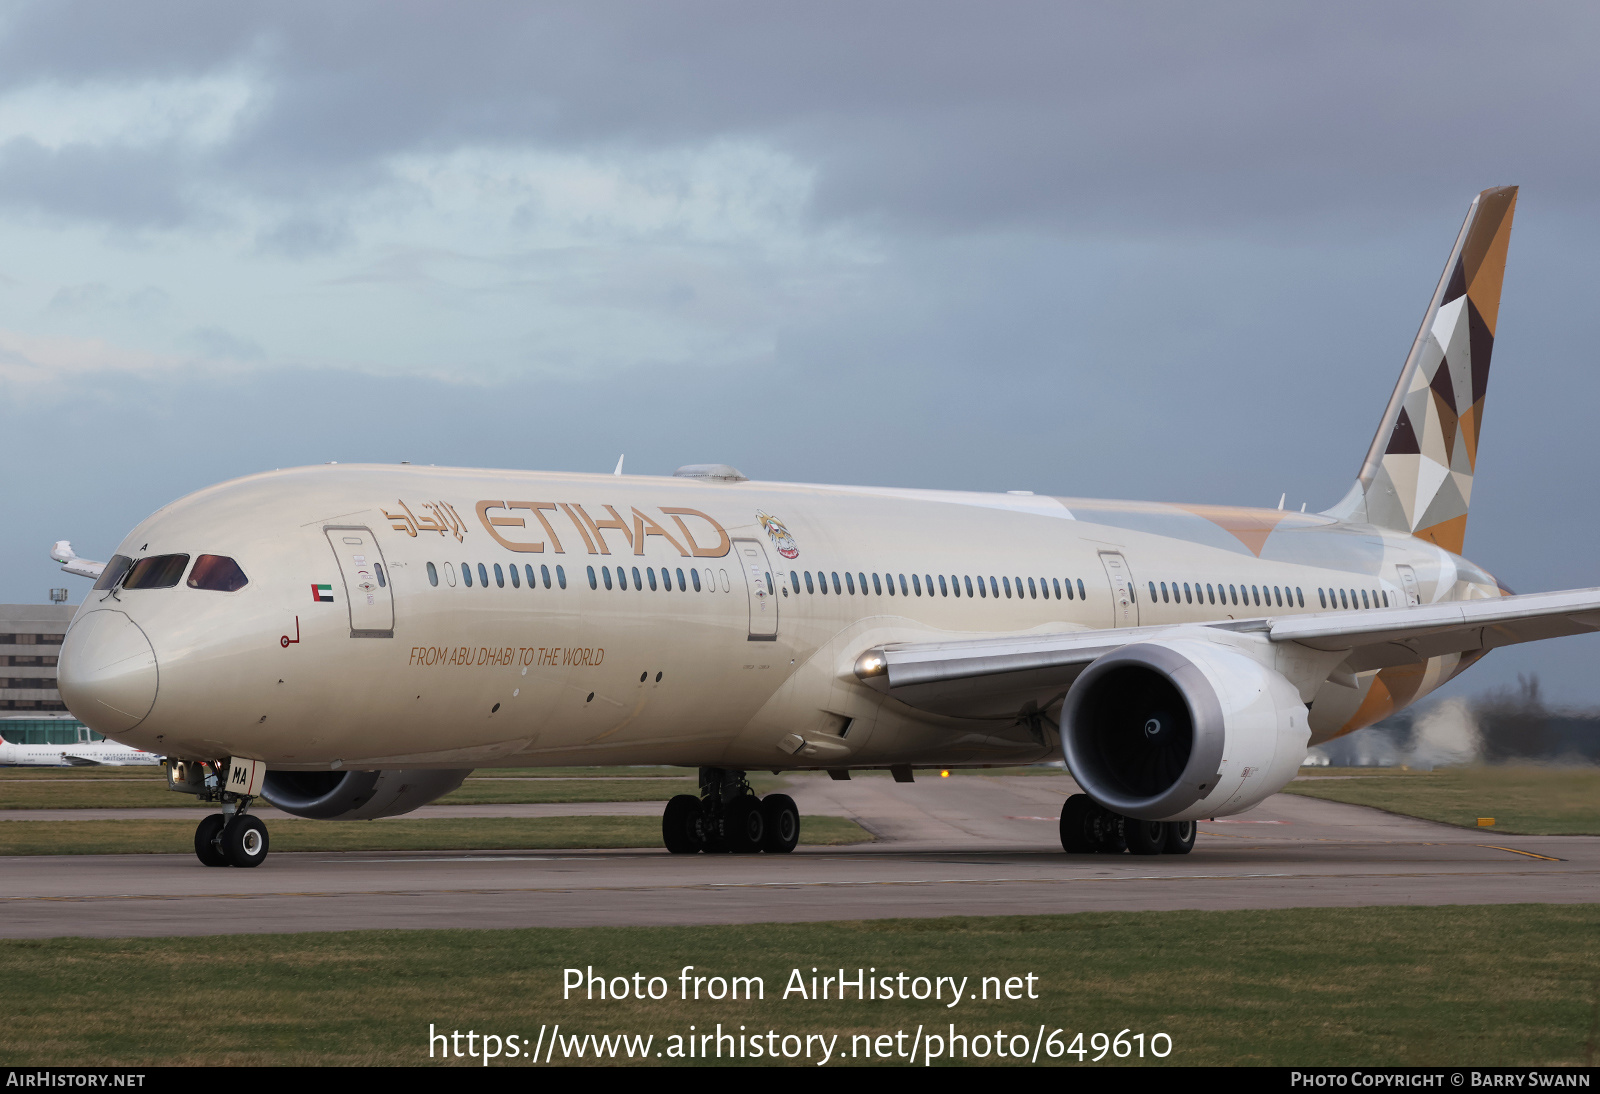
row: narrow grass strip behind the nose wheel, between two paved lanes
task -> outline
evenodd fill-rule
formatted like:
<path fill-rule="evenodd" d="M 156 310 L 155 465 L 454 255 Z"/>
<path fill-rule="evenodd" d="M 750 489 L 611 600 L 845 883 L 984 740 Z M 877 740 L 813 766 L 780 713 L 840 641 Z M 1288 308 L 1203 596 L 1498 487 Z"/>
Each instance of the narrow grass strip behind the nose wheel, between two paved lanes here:
<path fill-rule="evenodd" d="M 8 854 L 194 854 L 197 819 L 0 820 Z M 272 820 L 274 851 L 523 851 L 549 848 L 659 848 L 659 817 L 507 817 L 443 820 Z M 800 843 L 864 843 L 872 835 L 845 817 L 805 817 Z"/>

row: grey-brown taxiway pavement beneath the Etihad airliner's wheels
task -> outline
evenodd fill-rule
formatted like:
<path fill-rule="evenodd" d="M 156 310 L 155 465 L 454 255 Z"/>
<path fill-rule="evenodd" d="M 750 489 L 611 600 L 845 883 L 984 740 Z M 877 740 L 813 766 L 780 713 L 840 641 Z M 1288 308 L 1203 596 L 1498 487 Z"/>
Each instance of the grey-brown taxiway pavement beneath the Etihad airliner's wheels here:
<path fill-rule="evenodd" d="M 1189 856 L 1066 856 L 1054 819 L 1070 790 L 1038 776 L 795 779 L 803 814 L 848 816 L 880 838 L 790 856 L 275 852 L 254 870 L 192 856 L 8 857 L 0 937 L 1600 899 L 1600 836 L 1507 836 L 1294 795 L 1202 822 Z"/>

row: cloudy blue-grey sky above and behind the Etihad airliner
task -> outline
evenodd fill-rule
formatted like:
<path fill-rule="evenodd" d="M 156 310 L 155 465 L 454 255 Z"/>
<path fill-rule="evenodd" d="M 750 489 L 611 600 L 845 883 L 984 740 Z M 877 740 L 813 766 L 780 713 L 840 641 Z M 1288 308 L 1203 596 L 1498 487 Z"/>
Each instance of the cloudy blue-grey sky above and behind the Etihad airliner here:
<path fill-rule="evenodd" d="M 1467 553 L 1600 584 L 1600 10 L 0 3 L 0 598 L 411 459 L 1240 504 L 1354 477 L 1520 184 Z M 1600 640 L 1501 651 L 1600 702 Z"/>

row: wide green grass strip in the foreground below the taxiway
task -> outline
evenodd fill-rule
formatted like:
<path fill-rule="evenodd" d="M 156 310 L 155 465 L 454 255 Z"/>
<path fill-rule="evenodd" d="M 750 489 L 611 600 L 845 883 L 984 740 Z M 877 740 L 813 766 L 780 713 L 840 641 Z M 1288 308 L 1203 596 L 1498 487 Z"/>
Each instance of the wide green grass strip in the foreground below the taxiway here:
<path fill-rule="evenodd" d="M 968 1036 L 1061 1028 L 1067 1043 L 1165 1032 L 1181 1065 L 1594 1064 L 1597 939 L 1597 905 L 1486 905 L 6 940 L 0 1064 L 410 1065 L 429 1062 L 429 1024 L 536 1038 L 555 1022 L 654 1035 L 651 1056 L 690 1024 L 840 1035 L 848 1054 L 851 1035 L 904 1030 L 909 1048 L 918 1024 L 954 1022 Z M 760 976 L 766 998 L 678 1001 L 685 964 Z M 661 976 L 672 995 L 563 1000 L 563 969 L 589 966 Z M 781 998 L 813 966 L 966 976 L 968 990 L 1032 972 L 1038 998 Z"/>

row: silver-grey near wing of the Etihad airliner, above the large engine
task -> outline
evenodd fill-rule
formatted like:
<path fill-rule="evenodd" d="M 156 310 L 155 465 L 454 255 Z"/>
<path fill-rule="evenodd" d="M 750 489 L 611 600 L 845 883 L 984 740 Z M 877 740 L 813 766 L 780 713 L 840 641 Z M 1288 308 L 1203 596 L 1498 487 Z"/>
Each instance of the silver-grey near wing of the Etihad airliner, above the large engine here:
<path fill-rule="evenodd" d="M 1322 611 L 1282 619 L 1190 624 L 1258 632 L 1328 653 L 1347 651 L 1341 672 L 1421 662 L 1600 630 L 1600 589 L 1525 593 L 1406 608 Z M 930 713 L 1003 718 L 1048 710 L 1093 661 L 1120 646 L 1170 635 L 1173 624 L 874 646 L 856 662 L 869 686 Z"/>

